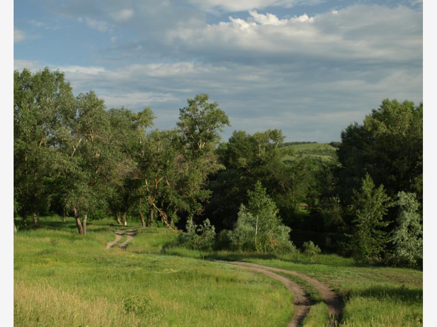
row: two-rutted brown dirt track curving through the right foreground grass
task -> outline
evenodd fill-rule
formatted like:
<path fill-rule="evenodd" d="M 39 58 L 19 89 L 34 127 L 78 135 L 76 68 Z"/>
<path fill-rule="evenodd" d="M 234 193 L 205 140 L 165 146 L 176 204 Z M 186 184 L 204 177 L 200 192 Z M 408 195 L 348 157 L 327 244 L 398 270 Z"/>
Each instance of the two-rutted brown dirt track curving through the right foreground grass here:
<path fill-rule="evenodd" d="M 305 292 L 303 291 L 303 288 L 299 286 L 297 283 L 287 279 L 284 276 L 277 275 L 273 273 L 273 271 L 283 272 L 286 274 L 290 274 L 293 276 L 297 276 L 308 283 L 310 283 L 316 290 L 320 292 L 320 296 L 323 299 L 323 301 L 328 306 L 329 313 L 334 316 L 334 320 L 336 323 L 340 322 L 341 315 L 342 315 L 342 308 L 340 303 L 340 297 L 326 284 L 320 282 L 319 280 L 315 280 L 314 278 L 311 278 L 309 276 L 306 276 L 302 273 L 298 273 L 297 271 L 291 271 L 286 269 L 280 269 L 280 268 L 274 268 L 274 267 L 268 267 L 264 265 L 257 265 L 257 264 L 251 264 L 247 262 L 241 262 L 241 261 L 234 261 L 232 262 L 234 265 L 239 265 L 241 267 L 245 267 L 254 271 L 260 271 L 264 274 L 276 279 L 280 280 L 288 290 L 293 294 L 295 300 L 294 304 L 296 306 L 295 314 L 293 316 L 293 320 L 288 324 L 288 326 L 299 326 L 303 319 L 305 318 L 306 314 L 308 313 L 311 303 L 306 296 Z M 291 284 L 290 284 L 291 283 Z M 294 284 L 293 286 L 291 286 Z M 297 287 L 296 287 L 297 286 Z M 297 317 L 296 317 L 297 316 Z"/>

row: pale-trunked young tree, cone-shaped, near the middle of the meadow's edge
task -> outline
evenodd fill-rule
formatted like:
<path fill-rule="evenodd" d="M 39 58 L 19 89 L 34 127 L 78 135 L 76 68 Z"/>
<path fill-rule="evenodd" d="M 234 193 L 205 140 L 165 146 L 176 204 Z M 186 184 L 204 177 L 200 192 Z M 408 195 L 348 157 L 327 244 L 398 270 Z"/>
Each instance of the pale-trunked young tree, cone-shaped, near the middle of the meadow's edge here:
<path fill-rule="evenodd" d="M 289 239 L 291 229 L 282 224 L 278 209 L 261 182 L 255 184 L 253 191 L 248 190 L 248 197 L 247 207 L 240 206 L 231 245 L 235 249 L 264 253 L 295 249 Z"/>

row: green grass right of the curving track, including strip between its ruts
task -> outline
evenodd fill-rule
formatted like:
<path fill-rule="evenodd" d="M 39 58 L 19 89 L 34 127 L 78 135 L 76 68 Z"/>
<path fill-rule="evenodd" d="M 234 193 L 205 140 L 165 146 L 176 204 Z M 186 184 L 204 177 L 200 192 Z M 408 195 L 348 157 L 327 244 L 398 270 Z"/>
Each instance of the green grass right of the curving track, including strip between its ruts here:
<path fill-rule="evenodd" d="M 239 260 L 287 270 L 298 271 L 330 285 L 343 301 L 340 326 L 422 326 L 422 272 L 394 267 L 358 267 L 350 258 L 334 254 L 318 254 L 308 258 L 301 253 L 260 255 L 227 251 L 202 252 L 173 248 L 174 255 L 209 260 Z M 305 282 L 302 282 L 304 284 Z M 310 293 L 311 290 L 307 289 Z M 316 291 L 317 292 L 317 291 Z M 313 294 L 317 298 L 317 293 Z M 320 303 L 319 303 L 320 304 Z M 312 308 L 308 326 L 329 324 L 323 305 Z M 311 313 L 310 311 L 310 313 Z M 323 324 L 319 324 L 324 319 Z"/>

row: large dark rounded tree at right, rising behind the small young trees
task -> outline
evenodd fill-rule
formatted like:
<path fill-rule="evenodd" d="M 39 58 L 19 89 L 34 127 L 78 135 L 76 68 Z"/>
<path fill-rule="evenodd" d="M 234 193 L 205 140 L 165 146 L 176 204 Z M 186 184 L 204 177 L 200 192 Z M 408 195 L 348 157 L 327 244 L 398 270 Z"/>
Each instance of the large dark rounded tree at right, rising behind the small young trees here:
<path fill-rule="evenodd" d="M 423 105 L 405 100 L 383 100 L 362 125 L 354 123 L 341 132 L 338 146 L 338 191 L 345 204 L 352 189 L 369 173 L 376 184 L 384 184 L 387 194 L 399 191 L 422 196 Z"/>

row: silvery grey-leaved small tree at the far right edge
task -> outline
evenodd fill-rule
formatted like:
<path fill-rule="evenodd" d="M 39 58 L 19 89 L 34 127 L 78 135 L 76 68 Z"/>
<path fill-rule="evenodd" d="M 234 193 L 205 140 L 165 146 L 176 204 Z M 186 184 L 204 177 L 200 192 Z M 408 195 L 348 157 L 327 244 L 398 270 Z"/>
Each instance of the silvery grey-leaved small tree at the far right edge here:
<path fill-rule="evenodd" d="M 414 193 L 399 192 L 395 204 L 399 207 L 396 227 L 391 240 L 396 260 L 400 264 L 415 266 L 423 257 L 423 239 L 419 202 Z"/>

